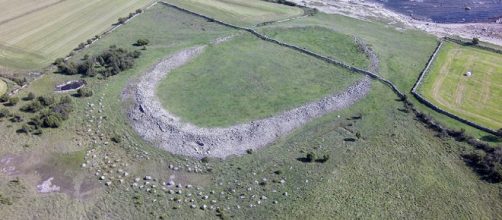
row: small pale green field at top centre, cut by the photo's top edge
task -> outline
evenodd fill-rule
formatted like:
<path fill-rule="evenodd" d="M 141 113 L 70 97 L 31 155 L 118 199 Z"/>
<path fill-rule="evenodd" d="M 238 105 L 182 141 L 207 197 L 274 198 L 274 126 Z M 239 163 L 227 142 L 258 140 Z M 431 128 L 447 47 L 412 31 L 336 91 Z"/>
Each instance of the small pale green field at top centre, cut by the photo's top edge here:
<path fill-rule="evenodd" d="M 300 8 L 261 0 L 167 0 L 166 2 L 238 25 L 255 25 L 303 14 Z"/>

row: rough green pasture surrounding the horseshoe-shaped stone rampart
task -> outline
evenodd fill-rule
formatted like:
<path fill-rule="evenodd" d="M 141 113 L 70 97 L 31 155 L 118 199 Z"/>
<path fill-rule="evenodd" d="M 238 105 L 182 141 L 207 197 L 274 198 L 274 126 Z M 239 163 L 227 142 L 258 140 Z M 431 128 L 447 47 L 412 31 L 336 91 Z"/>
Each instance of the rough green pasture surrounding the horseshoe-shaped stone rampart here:
<path fill-rule="evenodd" d="M 280 27 L 312 25 L 356 35 L 370 43 L 381 59 L 381 74 L 395 81 L 405 91 L 411 89 L 435 46 L 435 39 L 422 32 L 401 32 L 378 22 L 338 15 L 318 14 L 308 19 L 283 23 Z M 75 162 L 82 161 L 82 154 L 85 154 L 83 150 L 96 147 L 94 154 L 103 159 L 98 167 L 109 167 L 103 158 L 105 154 L 120 156 L 122 162 L 129 164 L 125 169 L 130 172 L 130 178 L 122 185 L 111 187 L 104 187 L 102 183 L 91 185 L 95 193 L 89 197 L 74 198 L 64 193 L 35 193 L 36 184 L 40 181 L 39 173 L 25 174 L 26 171 L 21 170 L 23 175 L 16 182 L 11 181 L 15 180 L 14 176 L 0 172 L 0 194 L 12 200 L 12 205 L 0 205 L 2 218 L 219 219 L 215 211 L 198 208 L 202 204 L 211 205 L 210 200 L 216 200 L 215 206 L 229 207 L 225 217 L 234 219 L 502 218 L 500 184 L 481 181 L 459 157 L 464 150 L 470 150 L 470 146 L 436 137 L 412 114 L 399 111 L 402 103 L 395 100 L 395 94 L 376 82 L 370 94 L 354 106 L 319 118 L 271 146 L 242 157 L 210 160 L 208 164 L 201 165 L 198 160 L 166 153 L 142 141 L 127 123 L 126 113 L 121 111 L 128 105 L 121 102 L 121 93 L 128 82 L 176 51 L 208 44 L 218 37 L 231 34 L 236 32 L 158 5 L 79 53 L 74 59 L 80 59 L 84 54 L 99 53 L 114 44 L 132 50 L 135 49 L 132 42 L 139 38 L 151 41 L 133 69 L 107 80 L 86 78 L 95 95 L 75 98 L 76 111 L 62 128 L 46 130 L 41 137 L 25 136 L 15 132 L 19 123 L 0 120 L 0 155 L 32 155 L 29 157 L 32 161 L 28 160 L 31 167 L 37 168 L 40 165 L 37 161 L 41 161 L 51 175 L 64 176 L 75 183 L 87 180 L 96 184 L 95 172 L 80 169 Z M 323 35 L 329 37 L 332 33 L 319 31 L 319 37 Z M 315 34 L 306 37 L 312 36 Z M 237 49 L 254 51 L 252 54 L 256 56 L 253 59 L 263 56 L 260 52 L 263 48 L 249 48 L 249 45 L 259 44 L 253 38 L 239 36 L 234 40 L 244 44 L 235 46 Z M 303 42 L 303 46 L 312 49 L 318 47 L 315 40 L 311 42 Z M 229 57 L 227 53 L 235 53 L 223 49 L 232 44 L 230 41 L 207 48 L 205 54 L 221 51 L 223 57 Z M 200 57 L 190 65 L 196 66 L 202 59 Z M 303 68 L 298 67 L 300 70 Z M 75 78 L 79 77 L 46 75 L 23 90 L 19 97 L 24 97 L 30 91 L 37 95 L 52 94 L 56 83 Z M 245 86 L 247 82 L 239 85 Z M 86 115 L 98 116 L 98 113 L 88 111 L 86 106 L 89 103 L 98 105 L 100 97 L 103 97 L 105 105 L 99 114 L 106 117 L 102 124 L 105 140 L 109 140 L 114 133 L 122 134 L 125 138 L 120 144 L 110 142 L 109 145 L 95 145 L 95 135 L 87 132 L 89 117 Z M 20 104 L 23 103 L 21 101 Z M 15 108 L 9 108 L 15 111 Z M 358 114 L 362 115 L 361 120 L 347 120 Z M 357 133 L 361 138 L 356 142 L 344 141 L 345 138 L 355 137 Z M 79 142 L 82 146 L 77 145 Z M 30 147 L 23 147 L 24 144 Z M 307 152 L 330 155 L 330 160 L 322 164 L 297 160 Z M 169 164 L 180 167 L 197 164 L 212 169 L 205 173 L 190 173 L 185 169 L 172 171 L 168 169 Z M 195 196 L 195 187 L 184 188 L 182 194 L 175 195 L 161 191 L 160 184 L 156 192 L 130 187 L 135 177 L 142 178 L 145 175 L 152 175 L 159 181 L 175 175 L 177 182 L 202 187 L 209 199 Z M 255 182 L 263 178 L 268 180 L 266 184 Z M 280 179 L 284 179 L 285 183 L 278 183 Z M 211 194 L 213 190 L 215 193 Z M 221 192 L 225 195 L 220 196 Z M 284 195 L 285 192 L 288 196 Z M 191 195 L 188 196 L 188 193 Z M 241 195 L 245 198 L 241 198 Z M 257 200 L 261 196 L 268 199 L 258 205 Z M 175 202 L 170 198 L 179 200 Z M 192 198 L 195 198 L 197 208 L 189 207 L 188 200 Z M 277 204 L 273 204 L 273 201 L 277 201 Z M 256 206 L 250 208 L 250 204 Z M 241 208 L 238 209 L 237 205 Z"/>

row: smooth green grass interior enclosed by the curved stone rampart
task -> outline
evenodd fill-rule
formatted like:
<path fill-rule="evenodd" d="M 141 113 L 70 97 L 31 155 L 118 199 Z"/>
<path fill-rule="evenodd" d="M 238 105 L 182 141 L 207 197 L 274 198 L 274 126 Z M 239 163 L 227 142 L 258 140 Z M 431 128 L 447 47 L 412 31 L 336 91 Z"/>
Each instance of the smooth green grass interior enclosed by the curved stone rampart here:
<path fill-rule="evenodd" d="M 353 54 L 364 58 L 357 51 Z M 207 48 L 196 60 L 174 70 L 161 82 L 157 95 L 169 111 L 191 123 L 229 126 L 316 101 L 360 78 L 242 34 Z"/>

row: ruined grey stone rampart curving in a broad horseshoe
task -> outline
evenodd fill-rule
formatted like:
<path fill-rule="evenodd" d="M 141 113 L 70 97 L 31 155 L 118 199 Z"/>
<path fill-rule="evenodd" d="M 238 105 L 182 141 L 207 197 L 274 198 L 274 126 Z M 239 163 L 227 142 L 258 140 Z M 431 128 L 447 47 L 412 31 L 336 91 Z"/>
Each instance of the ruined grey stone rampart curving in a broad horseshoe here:
<path fill-rule="evenodd" d="M 128 117 L 133 128 L 147 141 L 171 153 L 225 158 L 245 154 L 273 143 L 277 138 L 327 113 L 334 112 L 363 98 L 370 90 L 368 77 L 319 101 L 280 113 L 276 116 L 226 128 L 201 128 L 183 122 L 168 112 L 155 95 L 157 84 L 170 71 L 186 64 L 202 53 L 205 46 L 182 50 L 164 59 L 124 90 L 123 99 L 132 101 Z M 371 52 L 371 50 L 368 50 Z M 371 71 L 378 72 L 378 60 L 372 60 Z"/>

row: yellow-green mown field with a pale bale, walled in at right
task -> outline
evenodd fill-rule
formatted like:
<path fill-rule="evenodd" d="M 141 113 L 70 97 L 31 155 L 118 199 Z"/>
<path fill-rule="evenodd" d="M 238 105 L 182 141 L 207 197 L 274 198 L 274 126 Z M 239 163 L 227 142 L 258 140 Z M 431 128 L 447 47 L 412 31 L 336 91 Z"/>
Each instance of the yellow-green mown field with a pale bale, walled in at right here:
<path fill-rule="evenodd" d="M 471 76 L 466 76 L 467 72 Z M 502 56 L 445 43 L 421 93 L 460 117 L 492 129 L 502 128 Z"/>

